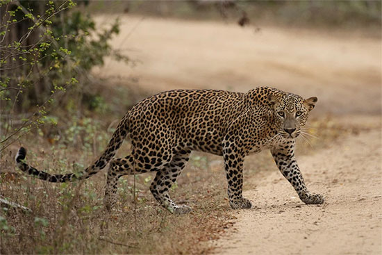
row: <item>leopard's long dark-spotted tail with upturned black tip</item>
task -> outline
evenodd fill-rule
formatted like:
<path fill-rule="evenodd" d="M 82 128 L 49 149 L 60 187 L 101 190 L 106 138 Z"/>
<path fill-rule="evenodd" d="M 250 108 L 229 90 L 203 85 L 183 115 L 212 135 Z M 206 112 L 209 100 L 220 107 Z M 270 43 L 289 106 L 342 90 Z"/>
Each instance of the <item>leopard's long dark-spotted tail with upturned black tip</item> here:
<path fill-rule="evenodd" d="M 15 157 L 17 167 L 19 167 L 19 170 L 22 170 L 23 172 L 26 172 L 27 174 L 31 174 L 37 177 L 38 179 L 42 179 L 44 181 L 50 181 L 53 183 L 56 183 L 56 182 L 63 183 L 63 182 L 69 182 L 69 181 L 78 181 L 78 180 L 88 179 L 90 176 L 97 174 L 97 172 L 102 170 L 103 167 L 105 167 L 109 163 L 109 161 L 115 156 L 115 153 L 117 152 L 119 147 L 121 147 L 122 142 L 124 141 L 124 138 L 126 138 L 126 135 L 127 135 L 126 127 L 127 125 L 124 118 L 121 122 L 119 122 L 117 129 L 113 133 L 113 137 L 108 143 L 108 147 L 106 147 L 105 151 L 103 151 L 103 154 L 99 156 L 97 161 L 94 161 L 92 165 L 90 165 L 83 171 L 70 173 L 70 174 L 49 174 L 47 172 L 37 170 L 35 169 L 35 167 L 31 167 L 30 165 L 24 162 L 26 157 L 26 149 L 24 149 L 24 147 L 21 147 L 19 149 Z"/>

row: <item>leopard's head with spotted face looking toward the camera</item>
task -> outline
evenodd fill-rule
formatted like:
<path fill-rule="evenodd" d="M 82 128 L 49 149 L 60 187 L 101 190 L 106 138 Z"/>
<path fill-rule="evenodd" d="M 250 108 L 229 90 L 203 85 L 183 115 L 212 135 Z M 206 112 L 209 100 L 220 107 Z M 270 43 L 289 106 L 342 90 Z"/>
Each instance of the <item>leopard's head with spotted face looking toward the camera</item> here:
<path fill-rule="evenodd" d="M 297 94 L 284 94 L 282 97 L 268 96 L 274 110 L 276 129 L 286 139 L 294 139 L 306 124 L 310 110 L 315 108 L 317 97 L 303 99 Z"/>

